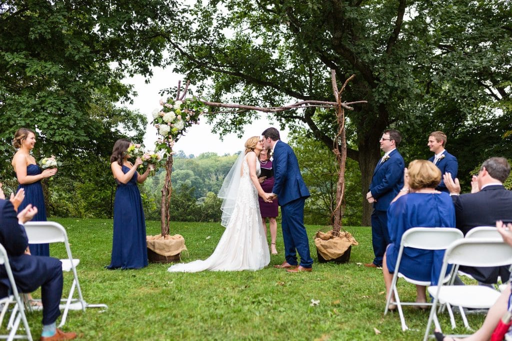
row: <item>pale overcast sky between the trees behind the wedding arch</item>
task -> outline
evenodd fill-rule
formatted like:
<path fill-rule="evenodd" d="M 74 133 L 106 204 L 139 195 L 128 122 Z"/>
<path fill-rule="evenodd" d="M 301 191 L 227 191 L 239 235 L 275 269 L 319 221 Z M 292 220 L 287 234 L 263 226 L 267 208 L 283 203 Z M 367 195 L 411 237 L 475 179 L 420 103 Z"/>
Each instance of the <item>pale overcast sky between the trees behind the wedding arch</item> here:
<path fill-rule="evenodd" d="M 185 83 L 185 80 L 180 75 L 173 74 L 171 68 L 166 70 L 160 68 L 155 69 L 154 76 L 149 84 L 144 82 L 144 77 L 136 76 L 134 78 L 125 79 L 126 83 L 135 85 L 135 90 L 138 96 L 134 98 L 133 105 L 127 105 L 131 109 L 138 109 L 141 113 L 147 116 L 148 126 L 146 134 L 144 136 L 144 145 L 151 149 L 157 139 L 156 129 L 150 123 L 152 121 L 151 113 L 154 109 L 159 108 L 159 91 L 163 88 L 178 85 L 178 80 Z M 224 137 L 224 140 L 220 140 L 220 135 L 211 132 L 211 126 L 206 124 L 206 120 L 201 120 L 199 125 L 190 127 L 184 137 L 175 144 L 174 150 L 183 150 L 186 155 L 194 154 L 198 156 L 204 152 L 216 152 L 219 155 L 225 153 L 232 154 L 240 151 L 244 147 L 245 141 L 255 135 L 260 135 L 263 130 L 269 126 L 275 126 L 279 129 L 279 126 L 272 125 L 267 119 L 258 120 L 245 127 L 244 135 L 241 139 L 237 138 L 236 134 L 228 134 Z M 281 139 L 287 142 L 286 131 L 281 132 Z"/>

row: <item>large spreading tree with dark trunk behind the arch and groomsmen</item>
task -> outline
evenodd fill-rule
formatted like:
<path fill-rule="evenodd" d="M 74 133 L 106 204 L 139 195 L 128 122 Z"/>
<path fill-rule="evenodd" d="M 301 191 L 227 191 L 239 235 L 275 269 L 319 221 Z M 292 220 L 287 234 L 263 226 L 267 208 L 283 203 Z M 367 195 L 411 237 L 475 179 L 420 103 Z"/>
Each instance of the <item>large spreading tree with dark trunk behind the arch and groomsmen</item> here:
<path fill-rule="evenodd" d="M 347 112 L 347 134 L 357 146 L 347 155 L 359 163 L 366 193 L 385 128 L 411 140 L 417 130 L 423 144 L 427 129 L 459 137 L 475 123 L 499 119 L 493 103 L 509 99 L 505 84 L 512 77 L 511 6 L 498 0 L 219 0 L 180 11 L 181 26 L 166 38 L 170 61 L 193 83 L 208 80 L 204 89 L 215 101 L 332 101 L 329 69 L 342 83 L 355 74 L 344 99 L 368 104 Z M 256 115 L 212 120 L 225 133 Z M 333 145 L 333 112 L 310 108 L 274 117 L 292 128 L 301 122 Z M 369 224 L 370 206 L 362 202 L 362 223 Z"/>

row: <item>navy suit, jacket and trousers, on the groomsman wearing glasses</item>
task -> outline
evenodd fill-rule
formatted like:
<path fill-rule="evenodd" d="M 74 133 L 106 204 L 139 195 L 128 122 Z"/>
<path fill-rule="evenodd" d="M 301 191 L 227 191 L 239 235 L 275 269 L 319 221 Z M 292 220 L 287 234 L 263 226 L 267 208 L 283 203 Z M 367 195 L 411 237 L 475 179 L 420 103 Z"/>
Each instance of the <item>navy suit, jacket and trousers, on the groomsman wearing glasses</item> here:
<path fill-rule="evenodd" d="M 391 243 L 388 230 L 389 204 L 403 187 L 403 157 L 396 149 L 388 156 L 388 160 L 379 160 L 375 167 L 369 190 L 376 200 L 372 213 L 372 244 L 375 255 L 373 264 L 377 266 L 382 266 L 382 257 Z"/>

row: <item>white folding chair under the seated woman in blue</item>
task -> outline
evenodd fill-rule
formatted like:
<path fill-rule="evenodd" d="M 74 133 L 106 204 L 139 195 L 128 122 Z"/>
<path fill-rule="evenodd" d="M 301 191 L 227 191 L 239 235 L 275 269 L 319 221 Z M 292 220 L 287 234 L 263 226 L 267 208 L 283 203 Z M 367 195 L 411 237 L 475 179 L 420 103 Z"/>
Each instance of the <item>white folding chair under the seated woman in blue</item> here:
<path fill-rule="evenodd" d="M 430 281 L 417 281 L 412 278 L 408 278 L 399 272 L 404 247 L 415 247 L 425 250 L 443 250 L 446 249 L 446 247 L 448 247 L 453 241 L 462 238 L 464 238 L 462 232 L 455 228 L 412 228 L 407 230 L 402 235 L 402 240 L 400 241 L 400 249 L 398 251 L 398 258 L 396 260 L 395 272 L 391 282 L 391 290 L 388 293 L 384 314 L 388 313 L 390 304 L 395 304 L 398 309 L 398 314 L 400 315 L 400 322 L 403 331 L 409 328 L 407 327 L 406 320 L 403 317 L 402 306 L 432 305 L 432 303 L 400 302 L 398 290 L 396 287 L 398 277 L 416 285 L 428 286 L 431 284 Z M 449 281 L 450 278 L 451 276 L 449 274 L 443 278 L 442 281 Z M 393 293 L 395 295 L 394 302 L 391 301 L 391 296 Z"/>

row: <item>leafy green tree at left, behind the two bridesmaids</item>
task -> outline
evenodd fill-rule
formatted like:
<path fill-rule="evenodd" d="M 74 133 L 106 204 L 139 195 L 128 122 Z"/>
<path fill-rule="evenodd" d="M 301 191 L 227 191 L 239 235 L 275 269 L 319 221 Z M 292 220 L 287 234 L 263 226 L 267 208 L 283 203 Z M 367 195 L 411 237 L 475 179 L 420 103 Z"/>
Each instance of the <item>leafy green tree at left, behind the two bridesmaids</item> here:
<path fill-rule="evenodd" d="M 42 153 L 81 158 L 82 167 L 108 156 L 120 137 L 141 139 L 145 117 L 113 104 L 130 99 L 124 77 L 151 76 L 161 64 L 162 32 L 173 25 L 174 6 L 174 0 L 0 1 L 2 175 L 10 175 L 19 127 L 37 129 Z"/>

